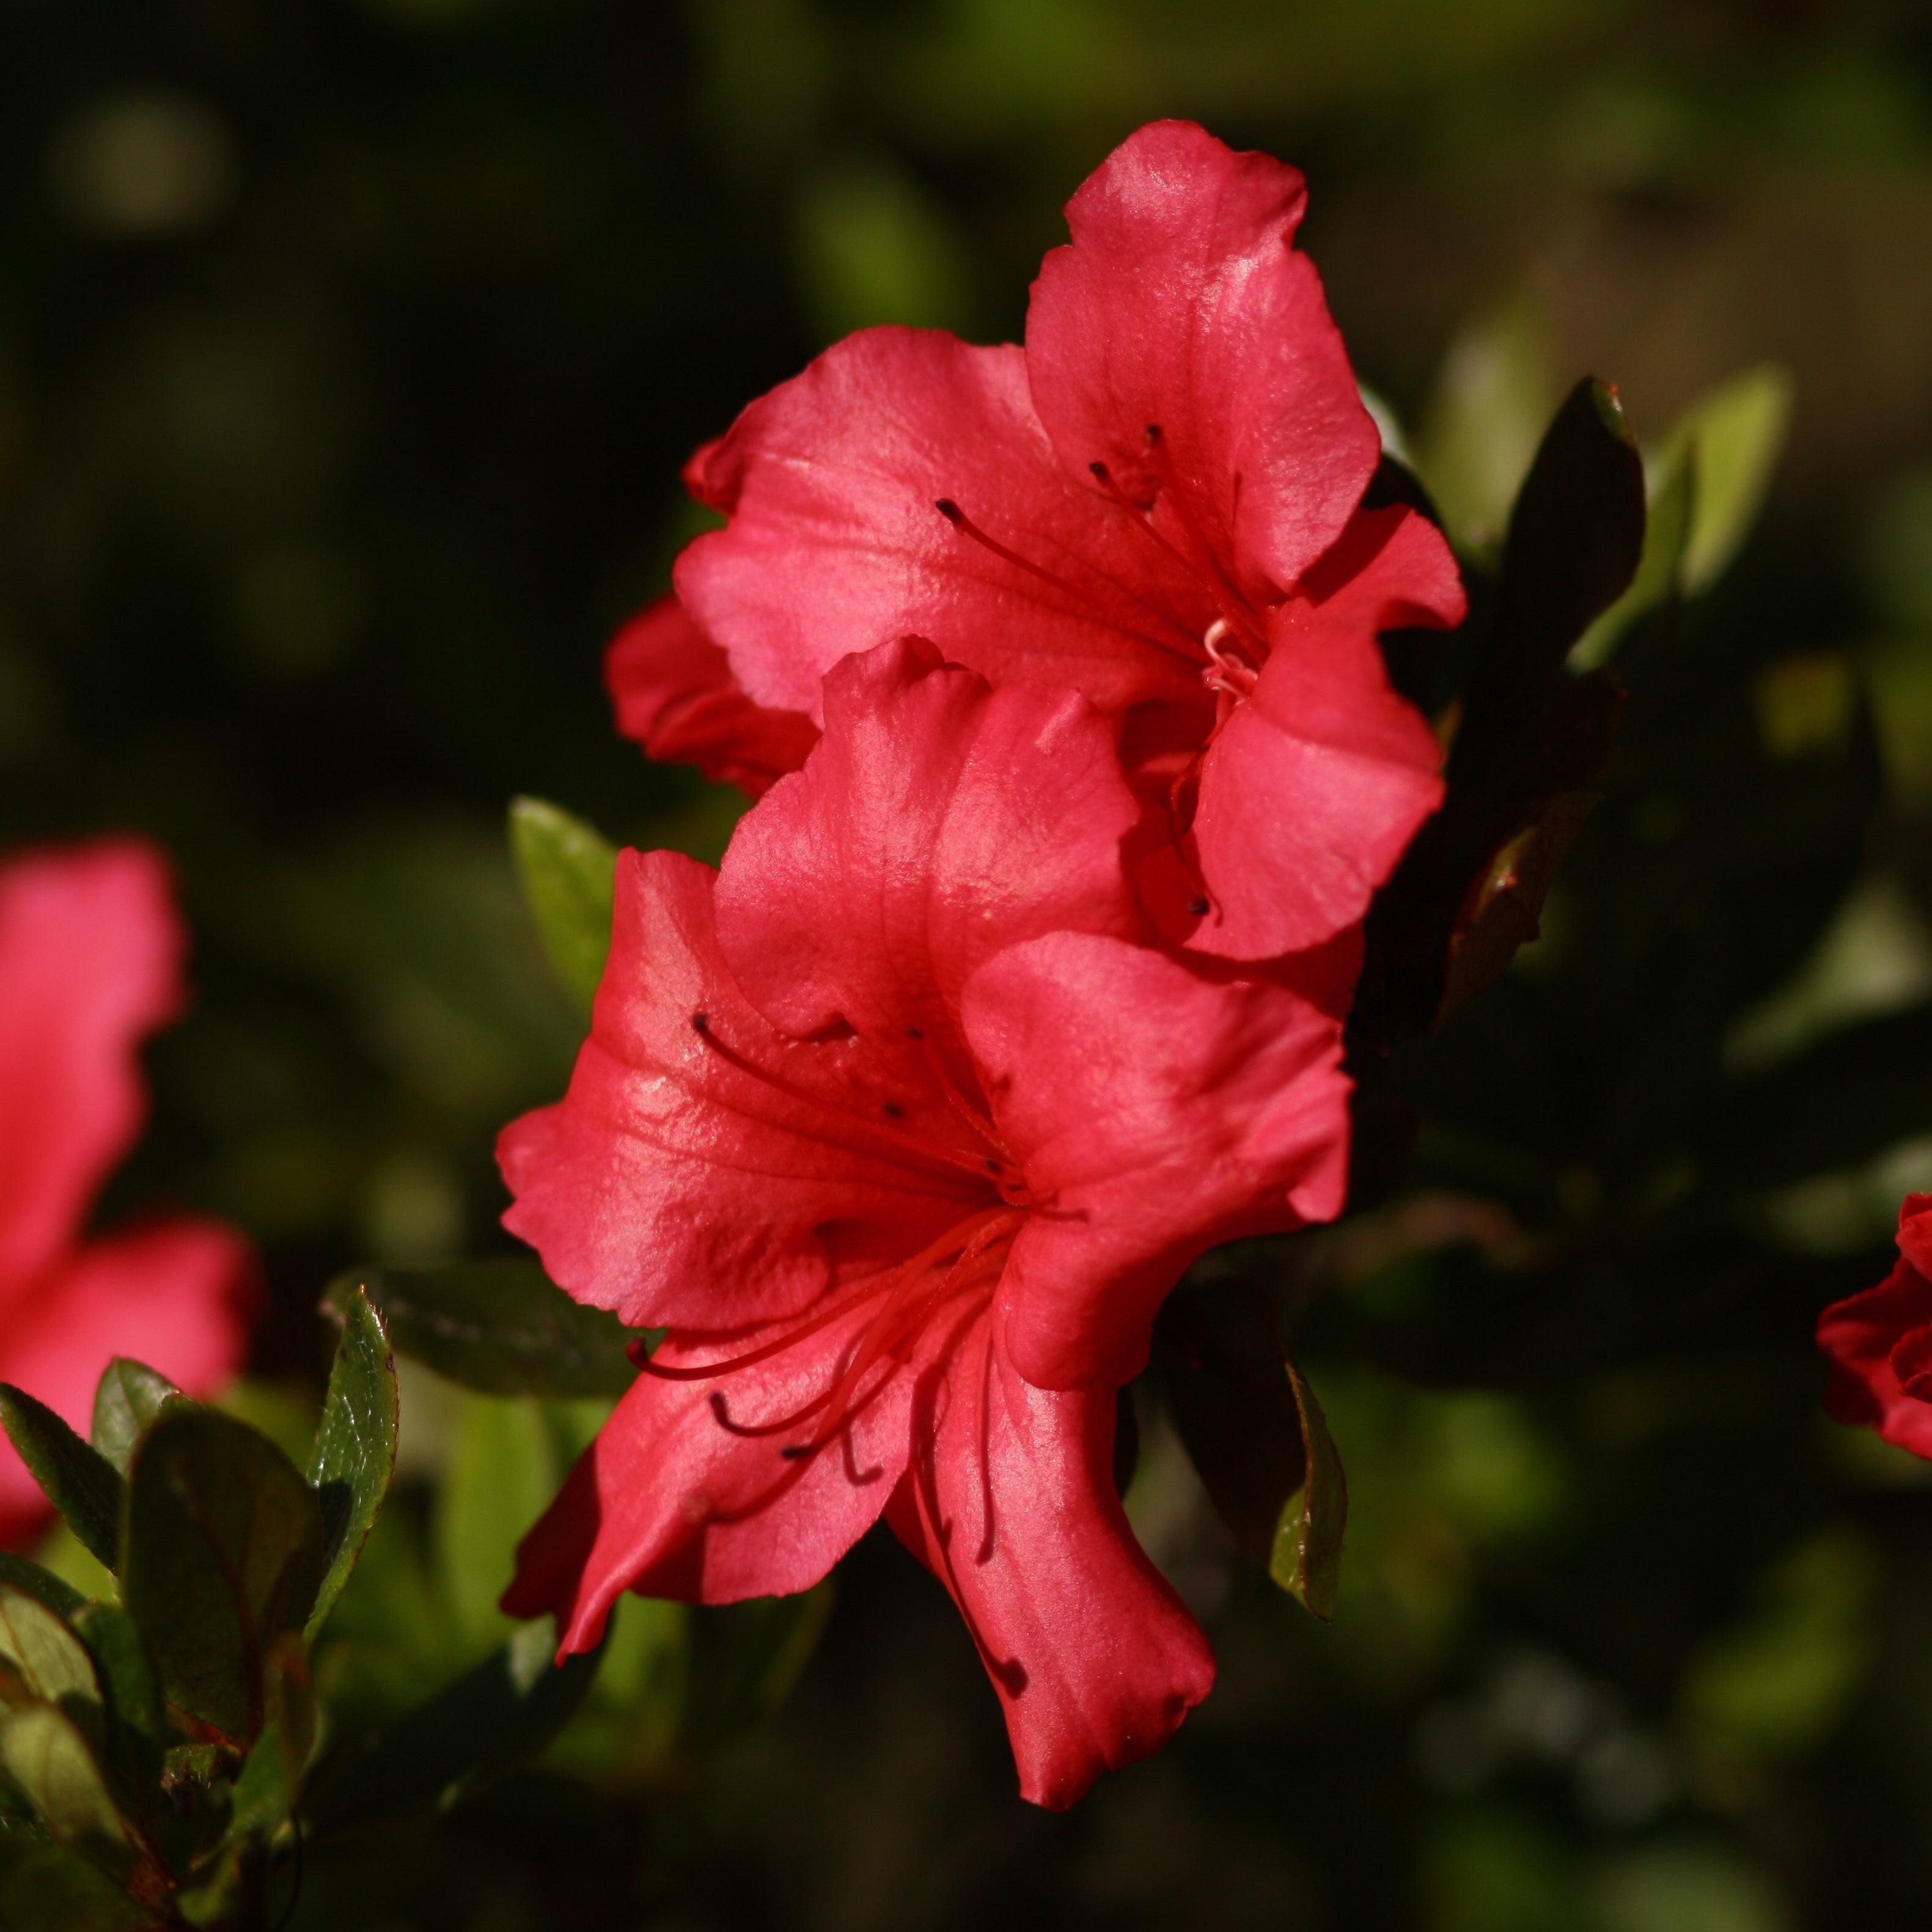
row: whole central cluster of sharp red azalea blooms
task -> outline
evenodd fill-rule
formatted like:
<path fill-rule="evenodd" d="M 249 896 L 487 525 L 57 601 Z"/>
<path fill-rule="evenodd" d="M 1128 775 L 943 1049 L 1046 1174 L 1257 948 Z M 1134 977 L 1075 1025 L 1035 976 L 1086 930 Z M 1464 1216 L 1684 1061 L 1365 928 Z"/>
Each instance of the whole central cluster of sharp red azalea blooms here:
<path fill-rule="evenodd" d="M 618 864 L 506 1215 L 663 1329 L 506 1607 L 810 1588 L 881 1517 L 952 1592 L 1022 1793 L 1206 1696 L 1117 1391 L 1209 1246 L 1341 1211 L 1362 920 L 1441 798 L 1378 634 L 1463 614 L 1302 178 L 1163 122 L 1074 195 L 1026 344 L 873 328 L 688 466 L 724 518 L 616 639 L 626 732 L 759 798 Z"/>

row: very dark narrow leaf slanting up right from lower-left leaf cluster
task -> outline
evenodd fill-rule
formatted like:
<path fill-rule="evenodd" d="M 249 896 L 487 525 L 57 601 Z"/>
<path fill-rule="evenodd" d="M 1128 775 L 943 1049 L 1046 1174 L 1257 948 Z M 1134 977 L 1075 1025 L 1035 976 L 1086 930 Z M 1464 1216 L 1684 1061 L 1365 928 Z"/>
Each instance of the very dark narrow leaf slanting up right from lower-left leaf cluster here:
<path fill-rule="evenodd" d="M 570 1721 L 597 1675 L 599 1652 L 553 1663 L 551 1621 L 526 1625 L 440 1696 L 410 1712 L 317 1787 L 317 1837 L 448 1810 L 527 1764 Z"/>

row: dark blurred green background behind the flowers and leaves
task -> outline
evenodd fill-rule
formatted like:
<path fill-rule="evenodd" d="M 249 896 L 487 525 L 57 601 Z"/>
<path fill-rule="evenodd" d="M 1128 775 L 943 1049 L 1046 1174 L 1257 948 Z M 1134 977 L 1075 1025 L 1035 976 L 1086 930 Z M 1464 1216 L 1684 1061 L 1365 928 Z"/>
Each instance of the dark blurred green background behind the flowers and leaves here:
<path fill-rule="evenodd" d="M 599 686 L 678 464 L 848 328 L 1016 336 L 1159 114 L 1308 172 L 1478 549 L 1584 371 L 1652 444 L 1741 369 L 1795 394 L 1756 533 L 1625 639 L 1546 941 L 1395 1070 L 1405 1192 L 1238 1264 L 1349 1464 L 1337 1623 L 1144 1408 L 1130 1503 L 1221 1685 L 1070 1816 L 1012 1797 L 951 1605 L 873 1540 L 775 1718 L 798 1625 L 632 1605 L 554 1762 L 319 1855 L 298 1924 L 1932 1922 L 1932 1470 L 1824 1422 L 1810 1349 L 1932 1184 L 1922 6 L 0 0 L 0 842 L 141 827 L 197 935 L 106 1211 L 257 1236 L 288 1403 L 338 1267 L 502 1244 L 495 1128 L 576 1041 L 508 798 L 703 856 L 736 810 Z M 346 1605 L 346 1710 L 497 1640 L 502 1499 L 583 1424 L 408 1406 L 419 1534 Z"/>

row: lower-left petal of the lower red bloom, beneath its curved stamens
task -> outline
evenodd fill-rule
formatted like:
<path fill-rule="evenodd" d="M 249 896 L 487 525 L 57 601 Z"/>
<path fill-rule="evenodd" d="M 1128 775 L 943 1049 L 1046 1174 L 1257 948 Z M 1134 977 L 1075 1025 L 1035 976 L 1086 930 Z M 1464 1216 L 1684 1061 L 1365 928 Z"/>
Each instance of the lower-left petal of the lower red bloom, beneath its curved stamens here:
<path fill-rule="evenodd" d="M 591 1650 L 626 1592 L 688 1604 L 810 1590 L 871 1528 L 906 1466 L 912 1378 L 893 1364 L 862 1391 L 844 1430 L 817 1453 L 806 1416 L 771 1434 L 838 1379 L 877 1302 L 806 1341 L 717 1379 L 638 1378 L 556 1501 L 524 1538 L 512 1617 L 556 1613 L 562 1650 Z M 682 1347 L 653 1366 L 723 1360 L 773 1339 Z M 719 1414 L 723 1405 L 723 1416 Z"/>

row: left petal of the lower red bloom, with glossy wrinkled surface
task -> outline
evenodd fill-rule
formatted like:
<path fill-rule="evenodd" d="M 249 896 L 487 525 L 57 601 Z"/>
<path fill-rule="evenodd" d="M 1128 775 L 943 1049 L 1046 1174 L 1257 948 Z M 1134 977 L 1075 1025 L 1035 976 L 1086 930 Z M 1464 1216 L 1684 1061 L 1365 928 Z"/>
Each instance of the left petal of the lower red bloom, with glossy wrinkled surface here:
<path fill-rule="evenodd" d="M 558 1287 L 639 1327 L 792 1314 L 840 1254 L 912 1254 L 983 1198 L 871 1124 L 893 1090 L 860 1041 L 786 1039 L 746 1001 L 717 947 L 715 877 L 676 852 L 620 854 L 570 1092 L 497 1144 L 504 1227 Z"/>

